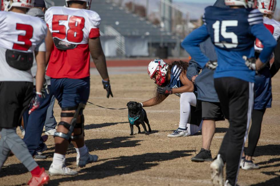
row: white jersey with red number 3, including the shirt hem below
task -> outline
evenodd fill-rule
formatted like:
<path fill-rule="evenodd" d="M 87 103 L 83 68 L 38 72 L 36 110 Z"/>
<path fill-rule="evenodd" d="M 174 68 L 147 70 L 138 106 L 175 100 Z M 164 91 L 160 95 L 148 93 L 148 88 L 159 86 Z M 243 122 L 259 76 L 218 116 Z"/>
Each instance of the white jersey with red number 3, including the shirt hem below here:
<path fill-rule="evenodd" d="M 45 52 L 45 37 L 47 25 L 40 18 L 22 13 L 0 11 L 0 81 L 33 82 L 30 70 L 18 70 L 10 66 L 7 56 L 10 53 L 21 52 L 33 55 L 33 51 Z M 11 57 L 17 54 L 11 54 Z M 25 60 L 25 59 L 24 59 Z M 16 59 L 21 63 L 21 59 Z M 32 60 L 33 62 L 33 60 Z M 32 66 L 32 64 L 31 64 Z"/>

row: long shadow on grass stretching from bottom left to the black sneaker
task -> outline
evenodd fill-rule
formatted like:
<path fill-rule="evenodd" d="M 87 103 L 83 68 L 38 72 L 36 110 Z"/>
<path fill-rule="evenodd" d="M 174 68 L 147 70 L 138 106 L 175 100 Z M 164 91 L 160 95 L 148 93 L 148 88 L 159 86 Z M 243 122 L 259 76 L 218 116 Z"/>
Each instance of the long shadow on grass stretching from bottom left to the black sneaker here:
<path fill-rule="evenodd" d="M 187 154 L 190 152 L 193 152 L 193 150 L 172 151 L 169 153 L 146 153 L 134 156 L 120 156 L 118 158 L 112 158 L 107 162 L 101 163 L 100 165 L 94 165 L 92 167 L 82 169 L 80 171 L 81 174 L 79 175 L 51 180 L 49 182 L 49 185 L 59 185 L 59 183 L 64 181 L 102 179 L 115 175 L 123 175 L 137 171 L 143 171 L 159 165 L 159 162 L 191 156 L 191 154 Z"/>

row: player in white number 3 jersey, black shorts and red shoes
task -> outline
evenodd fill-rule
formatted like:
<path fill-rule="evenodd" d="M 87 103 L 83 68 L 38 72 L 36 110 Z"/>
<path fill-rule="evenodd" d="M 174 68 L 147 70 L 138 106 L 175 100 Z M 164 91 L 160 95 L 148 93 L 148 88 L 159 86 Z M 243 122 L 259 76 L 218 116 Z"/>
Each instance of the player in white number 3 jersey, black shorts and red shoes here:
<path fill-rule="evenodd" d="M 25 14 L 33 4 L 33 0 L 4 0 L 5 11 L 0 11 L 0 169 L 12 151 L 32 174 L 28 185 L 44 185 L 49 176 L 16 133 L 33 97 L 33 52 L 37 61 L 36 97 L 29 113 L 42 100 L 47 26 L 40 18 Z"/>

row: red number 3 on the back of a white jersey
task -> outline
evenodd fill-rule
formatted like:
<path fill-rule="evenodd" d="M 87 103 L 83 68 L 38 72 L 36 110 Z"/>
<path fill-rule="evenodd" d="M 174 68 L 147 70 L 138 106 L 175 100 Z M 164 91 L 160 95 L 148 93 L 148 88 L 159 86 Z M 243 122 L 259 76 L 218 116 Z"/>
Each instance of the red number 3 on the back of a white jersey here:
<path fill-rule="evenodd" d="M 33 27 L 28 24 L 17 23 L 16 29 L 24 30 L 26 33 L 25 35 L 19 35 L 17 38 L 18 41 L 24 42 L 24 44 L 14 43 L 13 49 L 27 51 L 32 46 L 30 39 L 33 37 Z"/>

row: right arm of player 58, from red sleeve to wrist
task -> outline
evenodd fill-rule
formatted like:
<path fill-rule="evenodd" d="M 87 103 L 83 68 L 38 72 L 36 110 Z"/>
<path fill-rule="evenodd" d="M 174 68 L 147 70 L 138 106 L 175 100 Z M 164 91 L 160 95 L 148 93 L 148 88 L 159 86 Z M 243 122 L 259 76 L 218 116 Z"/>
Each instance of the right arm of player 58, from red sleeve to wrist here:
<path fill-rule="evenodd" d="M 93 62 L 104 81 L 109 81 L 109 75 L 106 66 L 106 59 L 103 53 L 100 38 L 89 39 L 89 51 Z"/>

